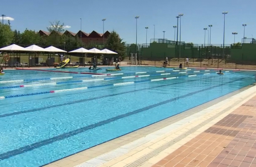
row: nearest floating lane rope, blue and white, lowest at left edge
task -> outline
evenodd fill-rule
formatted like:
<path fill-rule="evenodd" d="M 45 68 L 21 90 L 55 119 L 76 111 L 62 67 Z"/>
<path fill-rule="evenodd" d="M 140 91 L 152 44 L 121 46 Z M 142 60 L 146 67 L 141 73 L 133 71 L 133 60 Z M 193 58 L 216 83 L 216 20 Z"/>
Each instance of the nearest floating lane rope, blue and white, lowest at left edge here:
<path fill-rule="evenodd" d="M 66 90 L 43 91 L 43 92 L 39 92 L 39 93 L 27 93 L 27 94 L 16 94 L 16 95 L 9 95 L 9 96 L 0 96 L 0 100 L 10 99 L 10 98 L 14 98 L 14 97 L 34 96 L 34 95 L 39 95 L 39 94 L 51 94 L 51 93 L 63 93 L 63 92 L 67 92 L 67 91 L 87 90 L 89 88 L 131 85 L 131 84 L 140 83 L 140 82 L 157 82 L 157 81 L 161 81 L 161 80 L 178 79 L 178 78 L 182 78 L 182 77 L 201 76 L 201 75 L 204 75 L 204 74 L 214 74 L 214 73 L 202 73 L 202 74 L 175 76 L 175 77 L 163 77 L 163 78 L 160 78 L 160 79 L 147 79 L 147 80 L 140 80 L 140 81 L 133 81 L 133 82 L 111 83 L 111 84 L 97 85 L 97 86 L 92 86 L 92 87 L 81 87 L 81 88 L 71 88 L 71 89 L 66 89 Z"/>

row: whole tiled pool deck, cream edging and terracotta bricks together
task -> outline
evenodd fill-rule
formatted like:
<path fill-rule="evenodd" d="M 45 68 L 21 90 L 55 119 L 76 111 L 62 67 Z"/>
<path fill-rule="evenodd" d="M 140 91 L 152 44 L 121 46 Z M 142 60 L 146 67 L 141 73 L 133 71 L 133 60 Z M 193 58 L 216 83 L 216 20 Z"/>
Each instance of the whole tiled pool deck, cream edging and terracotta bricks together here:
<path fill-rule="evenodd" d="M 256 166 L 256 87 L 46 166 Z"/>

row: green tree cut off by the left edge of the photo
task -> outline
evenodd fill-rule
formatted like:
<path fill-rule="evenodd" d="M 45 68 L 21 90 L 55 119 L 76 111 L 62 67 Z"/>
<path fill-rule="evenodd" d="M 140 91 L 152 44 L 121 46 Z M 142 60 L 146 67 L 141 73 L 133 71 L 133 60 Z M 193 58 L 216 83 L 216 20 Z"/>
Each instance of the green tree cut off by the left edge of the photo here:
<path fill-rule="evenodd" d="M 0 46 L 7 46 L 13 41 L 13 31 L 7 24 L 0 23 Z"/>

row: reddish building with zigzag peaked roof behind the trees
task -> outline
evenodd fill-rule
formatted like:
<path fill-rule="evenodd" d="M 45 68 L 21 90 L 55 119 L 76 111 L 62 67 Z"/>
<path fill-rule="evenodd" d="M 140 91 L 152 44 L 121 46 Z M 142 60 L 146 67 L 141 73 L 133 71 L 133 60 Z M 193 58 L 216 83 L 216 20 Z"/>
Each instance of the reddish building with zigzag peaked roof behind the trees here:
<path fill-rule="evenodd" d="M 40 35 L 46 35 L 46 36 L 53 34 L 53 32 L 50 33 L 50 32 L 46 32 L 46 31 L 42 31 L 42 30 L 40 30 L 38 33 Z M 96 31 L 92 31 L 91 33 L 86 33 L 84 31 L 78 31 L 77 33 L 74 33 L 74 32 L 66 30 L 64 33 L 61 33 L 60 35 L 63 35 L 63 34 L 72 35 L 73 37 L 81 38 L 81 40 L 85 44 L 89 44 L 89 43 L 103 44 L 104 40 L 106 41 L 108 36 L 110 35 L 110 32 L 106 31 L 104 34 L 100 34 Z"/>

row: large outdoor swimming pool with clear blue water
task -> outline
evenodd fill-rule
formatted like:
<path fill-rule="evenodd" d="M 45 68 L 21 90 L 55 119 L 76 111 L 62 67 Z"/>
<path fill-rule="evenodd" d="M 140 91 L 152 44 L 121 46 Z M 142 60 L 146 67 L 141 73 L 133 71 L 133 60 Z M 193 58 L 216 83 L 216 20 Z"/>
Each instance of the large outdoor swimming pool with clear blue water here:
<path fill-rule="evenodd" d="M 255 82 L 254 71 L 105 69 L 98 73 L 107 76 L 5 70 L 0 166 L 45 165 Z"/>

